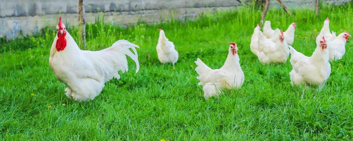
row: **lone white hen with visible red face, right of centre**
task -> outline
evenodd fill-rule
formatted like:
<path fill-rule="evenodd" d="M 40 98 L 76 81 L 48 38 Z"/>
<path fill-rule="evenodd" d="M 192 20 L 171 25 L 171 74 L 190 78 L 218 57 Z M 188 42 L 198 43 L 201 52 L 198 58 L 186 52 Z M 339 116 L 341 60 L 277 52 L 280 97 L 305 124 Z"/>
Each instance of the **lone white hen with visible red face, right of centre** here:
<path fill-rule="evenodd" d="M 239 61 L 238 47 L 235 43 L 230 43 L 227 59 L 220 69 L 212 70 L 197 58 L 195 71 L 199 76 L 196 78 L 200 80 L 198 85 L 203 86 L 205 99 L 218 96 L 222 88 L 228 90 L 241 88 L 244 83 L 244 72 Z"/>

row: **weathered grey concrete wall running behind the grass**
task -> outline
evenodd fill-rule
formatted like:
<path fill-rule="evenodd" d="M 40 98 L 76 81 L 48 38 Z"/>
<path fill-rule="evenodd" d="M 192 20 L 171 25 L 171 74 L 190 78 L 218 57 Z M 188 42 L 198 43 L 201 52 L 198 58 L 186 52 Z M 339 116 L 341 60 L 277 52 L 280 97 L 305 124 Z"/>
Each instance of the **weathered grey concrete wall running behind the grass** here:
<path fill-rule="evenodd" d="M 241 0 L 251 2 L 253 0 Z M 274 2 L 275 0 L 272 0 Z M 289 8 L 312 7 L 315 0 L 282 0 Z M 350 0 L 321 0 L 342 4 Z M 237 0 L 84 0 L 87 22 L 105 16 L 112 24 L 157 23 L 171 18 L 193 19 L 202 12 L 233 9 Z M 274 3 L 272 6 L 276 5 Z M 37 33 L 45 26 L 55 26 L 59 15 L 65 24 L 78 24 L 78 0 L 1 0 L 0 37 L 12 39 Z"/>

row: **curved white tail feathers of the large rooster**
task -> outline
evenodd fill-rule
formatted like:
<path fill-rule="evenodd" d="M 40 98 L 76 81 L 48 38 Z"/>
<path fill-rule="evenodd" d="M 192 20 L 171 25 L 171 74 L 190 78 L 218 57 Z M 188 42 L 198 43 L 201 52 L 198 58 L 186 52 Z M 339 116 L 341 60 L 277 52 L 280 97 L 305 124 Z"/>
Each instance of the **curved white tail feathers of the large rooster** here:
<path fill-rule="evenodd" d="M 131 59 L 133 59 L 136 63 L 136 73 L 138 72 L 138 70 L 140 69 L 140 65 L 138 63 L 138 55 L 137 55 L 137 51 L 136 51 L 136 47 L 139 48 L 137 45 L 130 43 L 127 40 L 119 40 L 116 41 L 113 45 L 111 45 L 111 47 L 120 47 L 123 51 L 122 53 L 128 55 Z M 134 51 L 134 53 L 132 53 L 130 51 L 130 48 Z"/>

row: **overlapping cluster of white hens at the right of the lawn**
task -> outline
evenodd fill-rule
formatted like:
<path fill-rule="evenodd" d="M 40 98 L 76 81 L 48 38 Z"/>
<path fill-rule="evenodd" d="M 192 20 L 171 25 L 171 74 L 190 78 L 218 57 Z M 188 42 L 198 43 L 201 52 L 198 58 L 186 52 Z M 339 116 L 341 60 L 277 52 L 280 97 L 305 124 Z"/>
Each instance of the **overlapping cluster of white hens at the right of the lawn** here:
<path fill-rule="evenodd" d="M 289 73 L 292 85 L 318 85 L 321 90 L 330 73 L 329 61 L 342 58 L 348 37 L 351 35 L 344 31 L 336 36 L 330 32 L 329 19 L 326 18 L 320 34 L 316 37 L 316 49 L 308 57 L 291 47 L 294 41 L 296 23 L 289 25 L 286 32 L 278 28 L 272 30 L 271 22 L 266 21 L 263 32 L 256 26 L 251 37 L 250 49 L 263 64 L 285 63 L 291 54 L 293 70 Z"/>

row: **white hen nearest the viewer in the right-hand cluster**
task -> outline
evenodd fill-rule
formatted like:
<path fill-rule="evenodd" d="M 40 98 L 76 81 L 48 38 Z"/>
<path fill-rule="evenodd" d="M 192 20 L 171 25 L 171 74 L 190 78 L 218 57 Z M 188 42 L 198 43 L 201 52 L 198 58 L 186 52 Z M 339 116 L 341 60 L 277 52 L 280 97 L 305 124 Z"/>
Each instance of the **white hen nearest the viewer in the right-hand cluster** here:
<path fill-rule="evenodd" d="M 326 39 L 323 34 L 316 38 L 315 51 L 308 57 L 290 47 L 293 70 L 289 73 L 291 84 L 300 86 L 302 84 L 316 85 L 321 90 L 331 73 L 331 66 L 328 62 L 328 50 Z"/>

